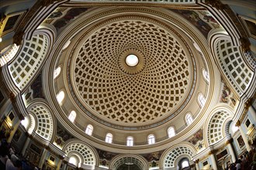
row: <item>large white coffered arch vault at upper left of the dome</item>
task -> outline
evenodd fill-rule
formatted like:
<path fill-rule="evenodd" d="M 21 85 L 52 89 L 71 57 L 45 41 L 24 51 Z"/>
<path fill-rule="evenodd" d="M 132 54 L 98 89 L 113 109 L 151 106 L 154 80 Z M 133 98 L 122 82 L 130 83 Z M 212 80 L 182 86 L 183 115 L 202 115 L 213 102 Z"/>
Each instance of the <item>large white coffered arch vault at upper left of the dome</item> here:
<path fill-rule="evenodd" d="M 19 90 L 24 89 L 43 66 L 50 49 L 50 39 L 45 32 L 35 32 L 30 40 L 22 43 L 20 53 L 9 63 L 9 73 Z"/>

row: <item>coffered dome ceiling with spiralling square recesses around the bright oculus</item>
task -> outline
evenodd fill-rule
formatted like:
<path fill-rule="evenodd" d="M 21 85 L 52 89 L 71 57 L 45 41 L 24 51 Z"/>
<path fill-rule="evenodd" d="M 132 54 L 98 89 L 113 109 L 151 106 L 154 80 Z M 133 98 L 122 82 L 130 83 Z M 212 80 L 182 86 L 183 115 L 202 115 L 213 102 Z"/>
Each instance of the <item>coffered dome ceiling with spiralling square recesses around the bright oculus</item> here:
<path fill-rule="evenodd" d="M 113 124 L 150 124 L 189 100 L 192 56 L 171 29 L 130 16 L 103 22 L 83 36 L 70 63 L 70 90 L 96 117 Z M 138 57 L 137 66 L 126 64 L 130 54 Z"/>

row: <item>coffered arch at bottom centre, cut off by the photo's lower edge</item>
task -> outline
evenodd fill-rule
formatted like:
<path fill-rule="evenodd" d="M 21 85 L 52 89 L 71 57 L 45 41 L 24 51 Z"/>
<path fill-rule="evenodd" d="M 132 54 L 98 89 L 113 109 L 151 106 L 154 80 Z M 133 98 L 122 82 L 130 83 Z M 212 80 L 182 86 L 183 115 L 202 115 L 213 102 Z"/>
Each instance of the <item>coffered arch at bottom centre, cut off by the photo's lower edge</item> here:
<path fill-rule="evenodd" d="M 148 169 L 147 160 L 140 155 L 117 155 L 109 163 L 109 169 L 116 170 L 120 165 L 129 163 L 135 164 L 143 170 Z"/>

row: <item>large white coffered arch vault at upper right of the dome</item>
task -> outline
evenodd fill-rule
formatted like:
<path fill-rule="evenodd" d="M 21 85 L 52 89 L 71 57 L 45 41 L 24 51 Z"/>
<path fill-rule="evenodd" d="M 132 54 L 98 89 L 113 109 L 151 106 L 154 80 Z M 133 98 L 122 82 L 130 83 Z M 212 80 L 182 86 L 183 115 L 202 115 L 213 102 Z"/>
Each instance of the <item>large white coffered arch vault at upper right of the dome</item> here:
<path fill-rule="evenodd" d="M 249 87 L 253 78 L 253 71 L 244 58 L 248 57 L 241 51 L 239 46 L 234 46 L 230 36 L 222 35 L 214 37 L 212 50 L 223 74 L 237 94 L 241 96 Z M 250 61 L 248 61 L 251 63 Z"/>

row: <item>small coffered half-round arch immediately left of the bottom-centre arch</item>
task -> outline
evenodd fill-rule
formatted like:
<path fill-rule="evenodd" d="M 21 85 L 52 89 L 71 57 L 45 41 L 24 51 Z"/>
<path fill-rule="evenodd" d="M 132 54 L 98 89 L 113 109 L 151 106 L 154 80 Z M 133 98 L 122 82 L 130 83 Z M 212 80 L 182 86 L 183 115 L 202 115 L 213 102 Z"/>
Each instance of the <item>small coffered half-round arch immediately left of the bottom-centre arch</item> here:
<path fill-rule="evenodd" d="M 74 154 L 77 156 L 80 155 L 81 165 L 98 165 L 99 156 L 96 154 L 96 151 L 91 146 L 85 144 L 85 142 L 76 140 L 69 141 L 64 145 L 62 150 L 68 157 Z"/>

